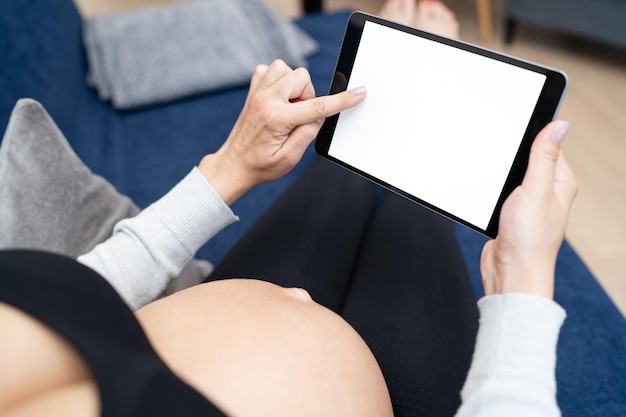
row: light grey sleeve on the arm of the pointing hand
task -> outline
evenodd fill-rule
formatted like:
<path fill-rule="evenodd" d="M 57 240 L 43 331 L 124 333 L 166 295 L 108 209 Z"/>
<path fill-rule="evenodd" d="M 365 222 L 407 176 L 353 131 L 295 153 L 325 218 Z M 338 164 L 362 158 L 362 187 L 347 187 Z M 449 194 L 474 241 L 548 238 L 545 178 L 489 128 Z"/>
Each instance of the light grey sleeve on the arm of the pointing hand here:
<path fill-rule="evenodd" d="M 211 237 L 237 220 L 194 168 L 78 261 L 104 276 L 133 309 L 150 302 Z"/>

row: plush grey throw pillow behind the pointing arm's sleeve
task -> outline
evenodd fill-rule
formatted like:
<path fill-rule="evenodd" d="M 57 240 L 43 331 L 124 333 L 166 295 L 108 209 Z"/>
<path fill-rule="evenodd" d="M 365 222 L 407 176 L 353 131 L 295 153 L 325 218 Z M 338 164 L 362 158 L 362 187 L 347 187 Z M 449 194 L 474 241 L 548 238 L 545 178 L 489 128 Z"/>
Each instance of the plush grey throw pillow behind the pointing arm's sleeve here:
<path fill-rule="evenodd" d="M 108 239 L 118 221 L 138 213 L 128 197 L 85 166 L 40 103 L 17 102 L 0 144 L 0 249 L 76 258 Z M 173 285 L 195 284 L 211 270 L 208 262 L 194 260 Z"/>

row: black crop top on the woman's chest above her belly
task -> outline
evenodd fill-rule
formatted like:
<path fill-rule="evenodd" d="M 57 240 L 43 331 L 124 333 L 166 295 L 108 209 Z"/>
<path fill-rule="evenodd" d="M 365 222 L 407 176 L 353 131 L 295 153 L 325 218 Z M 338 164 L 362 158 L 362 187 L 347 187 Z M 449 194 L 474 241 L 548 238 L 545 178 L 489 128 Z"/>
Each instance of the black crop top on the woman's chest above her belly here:
<path fill-rule="evenodd" d="M 73 259 L 0 251 L 0 301 L 76 348 L 98 386 L 103 417 L 224 416 L 170 371 L 113 287 Z"/>

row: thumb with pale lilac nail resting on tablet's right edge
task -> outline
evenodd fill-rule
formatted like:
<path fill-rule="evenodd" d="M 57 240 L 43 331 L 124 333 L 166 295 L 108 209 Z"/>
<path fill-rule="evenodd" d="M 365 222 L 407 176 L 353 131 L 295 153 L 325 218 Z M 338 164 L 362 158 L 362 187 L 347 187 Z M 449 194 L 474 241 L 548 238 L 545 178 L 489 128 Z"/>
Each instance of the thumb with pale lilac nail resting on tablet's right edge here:
<path fill-rule="evenodd" d="M 565 140 L 568 130 L 568 122 L 555 121 L 539 132 L 530 149 L 528 170 L 522 185 L 539 191 L 551 189 L 561 143 Z"/>

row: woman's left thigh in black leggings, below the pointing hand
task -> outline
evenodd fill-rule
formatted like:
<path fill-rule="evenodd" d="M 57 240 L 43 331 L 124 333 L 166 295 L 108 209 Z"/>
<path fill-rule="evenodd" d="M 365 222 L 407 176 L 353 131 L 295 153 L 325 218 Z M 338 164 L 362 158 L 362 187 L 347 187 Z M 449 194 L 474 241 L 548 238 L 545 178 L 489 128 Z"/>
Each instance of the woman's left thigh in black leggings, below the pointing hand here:
<path fill-rule="evenodd" d="M 208 280 L 302 287 L 339 311 L 374 207 L 374 187 L 318 159 L 242 237 Z"/>

